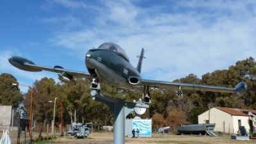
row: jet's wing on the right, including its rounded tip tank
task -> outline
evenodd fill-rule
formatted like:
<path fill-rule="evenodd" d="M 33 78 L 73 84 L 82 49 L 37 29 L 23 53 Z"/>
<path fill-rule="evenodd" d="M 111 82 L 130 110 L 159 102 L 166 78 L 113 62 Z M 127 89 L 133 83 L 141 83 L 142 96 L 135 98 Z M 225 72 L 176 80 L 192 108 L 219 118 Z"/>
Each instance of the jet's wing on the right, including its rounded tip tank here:
<path fill-rule="evenodd" d="M 175 90 L 201 90 L 210 92 L 227 92 L 234 93 L 236 96 L 241 96 L 245 93 L 247 85 L 244 82 L 237 84 L 236 88 L 226 88 L 221 86 L 209 86 L 202 84 L 189 84 L 189 83 L 175 83 L 168 81 L 154 81 L 148 79 L 141 79 L 141 86 L 149 86 L 153 88 L 166 88 Z"/>

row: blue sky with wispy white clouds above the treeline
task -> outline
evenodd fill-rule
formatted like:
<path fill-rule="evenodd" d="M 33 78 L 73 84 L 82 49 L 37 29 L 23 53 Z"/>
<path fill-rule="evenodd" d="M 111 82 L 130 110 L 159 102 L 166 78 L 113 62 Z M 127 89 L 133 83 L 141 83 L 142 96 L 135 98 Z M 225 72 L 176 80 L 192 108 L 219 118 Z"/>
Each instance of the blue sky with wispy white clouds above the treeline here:
<path fill-rule="evenodd" d="M 0 1 L 0 17 L 0 73 L 30 86 L 58 74 L 19 70 L 8 57 L 87 72 L 86 52 L 114 42 L 134 67 L 143 47 L 143 78 L 161 81 L 256 58 L 256 1 L 16 0 Z"/>

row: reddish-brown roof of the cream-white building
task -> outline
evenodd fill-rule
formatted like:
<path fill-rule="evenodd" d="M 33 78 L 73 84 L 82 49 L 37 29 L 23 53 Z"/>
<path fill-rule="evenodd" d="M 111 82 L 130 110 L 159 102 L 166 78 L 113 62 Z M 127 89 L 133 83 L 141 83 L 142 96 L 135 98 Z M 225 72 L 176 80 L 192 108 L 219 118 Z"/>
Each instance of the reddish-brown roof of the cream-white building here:
<path fill-rule="evenodd" d="M 236 116 L 249 116 L 248 112 L 251 111 L 254 115 L 256 115 L 256 110 L 251 109 L 237 109 L 237 108 L 224 108 L 224 107 L 215 107 L 217 109 L 220 109 L 221 111 L 225 111 L 226 113 L 229 113 L 230 115 L 236 115 Z"/>

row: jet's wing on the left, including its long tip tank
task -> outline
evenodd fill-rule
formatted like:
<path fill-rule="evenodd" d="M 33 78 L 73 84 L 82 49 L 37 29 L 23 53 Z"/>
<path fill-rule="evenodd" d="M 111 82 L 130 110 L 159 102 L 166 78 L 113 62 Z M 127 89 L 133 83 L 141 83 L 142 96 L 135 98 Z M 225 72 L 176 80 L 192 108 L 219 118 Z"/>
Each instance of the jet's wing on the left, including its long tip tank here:
<path fill-rule="evenodd" d="M 92 78 L 92 76 L 87 73 L 87 72 L 81 72 L 77 70 L 68 70 L 60 66 L 55 66 L 55 67 L 45 67 L 41 65 L 36 65 L 33 63 L 33 61 L 30 61 L 26 58 L 22 58 L 20 56 L 12 56 L 8 58 L 8 61 L 14 66 L 17 67 L 21 70 L 26 70 L 29 72 L 40 72 L 42 70 L 46 70 L 49 72 L 56 72 L 62 74 L 65 72 L 67 75 L 70 76 L 79 76 L 79 77 L 84 77 L 84 78 Z"/>

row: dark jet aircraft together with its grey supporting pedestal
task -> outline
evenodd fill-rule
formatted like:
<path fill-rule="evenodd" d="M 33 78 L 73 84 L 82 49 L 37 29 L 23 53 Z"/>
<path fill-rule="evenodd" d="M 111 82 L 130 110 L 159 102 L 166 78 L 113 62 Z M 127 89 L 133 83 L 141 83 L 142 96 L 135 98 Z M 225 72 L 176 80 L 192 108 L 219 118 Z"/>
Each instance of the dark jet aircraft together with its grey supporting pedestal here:
<path fill-rule="evenodd" d="M 85 65 L 89 73 L 77 70 L 68 70 L 60 66 L 45 67 L 36 65 L 33 61 L 20 56 L 11 56 L 8 61 L 21 70 L 40 72 L 47 70 L 58 73 L 58 79 L 64 83 L 76 84 L 74 76 L 90 79 L 92 99 L 104 102 L 114 113 L 114 143 L 125 143 L 125 116 L 135 108 L 148 108 L 151 103 L 150 91 L 154 88 L 176 89 L 177 95 L 182 95 L 182 89 L 202 90 L 212 92 L 228 92 L 235 96 L 244 95 L 247 85 L 244 82 L 237 84 L 236 88 L 220 86 L 207 86 L 201 84 L 173 83 L 168 81 L 153 81 L 141 77 L 141 65 L 144 57 L 144 49 L 138 56 L 139 62 L 136 68 L 132 67 L 127 54 L 119 45 L 106 42 L 97 49 L 90 49 L 85 56 Z M 121 99 L 113 99 L 100 93 L 101 83 L 106 83 L 124 90 L 143 90 L 142 100 L 138 102 L 124 102 Z M 151 88 L 151 89 L 150 89 Z M 144 97 L 145 96 L 145 97 Z M 136 103 L 136 104 L 135 104 Z M 125 107 L 127 106 L 127 107 Z"/>

